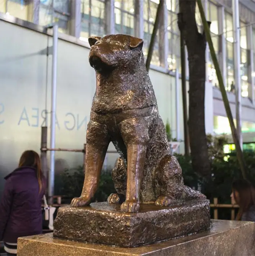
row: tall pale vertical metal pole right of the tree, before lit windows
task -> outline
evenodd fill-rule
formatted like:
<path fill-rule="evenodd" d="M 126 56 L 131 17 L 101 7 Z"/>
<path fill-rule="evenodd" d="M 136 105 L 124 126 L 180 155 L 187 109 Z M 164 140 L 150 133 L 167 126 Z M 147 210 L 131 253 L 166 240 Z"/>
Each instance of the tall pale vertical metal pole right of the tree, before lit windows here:
<path fill-rule="evenodd" d="M 232 0 L 233 8 L 233 29 L 234 29 L 234 76 L 235 76 L 235 107 L 236 107 L 236 126 L 237 135 L 241 149 L 243 148 L 242 138 L 242 87 L 240 76 L 240 28 L 239 28 L 239 1 Z"/>

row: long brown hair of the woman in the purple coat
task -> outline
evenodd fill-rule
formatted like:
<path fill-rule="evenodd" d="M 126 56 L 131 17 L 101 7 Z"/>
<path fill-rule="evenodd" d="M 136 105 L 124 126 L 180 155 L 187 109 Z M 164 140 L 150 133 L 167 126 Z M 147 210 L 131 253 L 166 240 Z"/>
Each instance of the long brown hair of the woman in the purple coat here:
<path fill-rule="evenodd" d="M 43 173 L 39 155 L 33 150 L 24 151 L 20 157 L 19 167 L 33 167 L 36 169 L 40 193 L 43 187 Z"/>

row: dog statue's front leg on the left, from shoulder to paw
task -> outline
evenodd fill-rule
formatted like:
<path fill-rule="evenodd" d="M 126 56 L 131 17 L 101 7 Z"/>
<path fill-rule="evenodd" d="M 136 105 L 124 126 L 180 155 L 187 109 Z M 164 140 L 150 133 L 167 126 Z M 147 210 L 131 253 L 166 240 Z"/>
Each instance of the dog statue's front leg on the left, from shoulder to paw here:
<path fill-rule="evenodd" d="M 105 125 L 90 121 L 87 128 L 85 178 L 80 197 L 74 198 L 71 206 L 89 205 L 98 188 L 103 162 L 110 143 Z"/>

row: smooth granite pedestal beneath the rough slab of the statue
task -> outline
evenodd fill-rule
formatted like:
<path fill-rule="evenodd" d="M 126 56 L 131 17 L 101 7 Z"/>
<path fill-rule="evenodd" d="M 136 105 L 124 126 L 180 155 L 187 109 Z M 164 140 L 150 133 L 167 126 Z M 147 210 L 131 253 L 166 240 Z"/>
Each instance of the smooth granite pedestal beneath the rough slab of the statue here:
<path fill-rule="evenodd" d="M 212 220 L 211 230 L 136 248 L 65 241 L 52 233 L 29 236 L 18 239 L 18 256 L 251 256 L 254 239 L 254 222 Z"/>

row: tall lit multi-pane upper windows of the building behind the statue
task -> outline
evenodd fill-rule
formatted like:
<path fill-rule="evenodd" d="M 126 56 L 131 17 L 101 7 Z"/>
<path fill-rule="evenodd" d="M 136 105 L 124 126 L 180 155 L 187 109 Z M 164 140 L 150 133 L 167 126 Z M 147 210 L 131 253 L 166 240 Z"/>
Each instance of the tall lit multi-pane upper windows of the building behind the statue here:
<path fill-rule="evenodd" d="M 234 92 L 234 36 L 231 8 L 204 0 L 211 36 L 221 65 L 227 91 Z M 144 39 L 147 56 L 159 0 L 2 0 L 0 12 L 44 26 L 57 22 L 59 31 L 87 41 L 88 36 L 121 33 Z M 180 34 L 177 25 L 178 0 L 165 0 L 151 64 L 174 74 L 180 69 Z M 255 13 L 253 13 L 255 16 Z M 250 17 L 251 15 L 249 15 Z M 248 17 L 248 15 L 247 15 Z M 243 97 L 255 90 L 255 26 L 240 13 L 240 73 Z M 199 31 L 203 31 L 196 8 Z M 254 28 L 253 28 L 254 26 Z M 252 62 L 252 63 L 251 63 Z M 210 53 L 207 54 L 207 81 L 218 86 Z M 171 73 L 172 72 L 172 73 Z M 254 98 L 254 96 L 253 96 Z"/>

